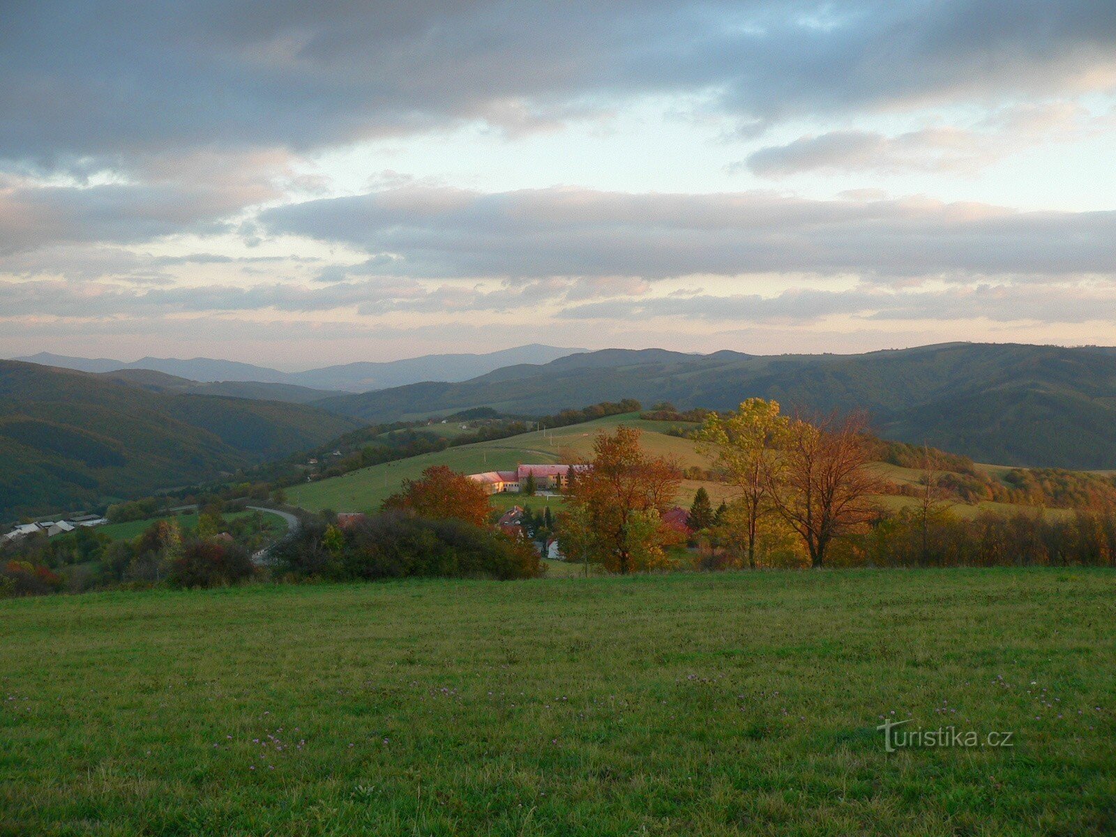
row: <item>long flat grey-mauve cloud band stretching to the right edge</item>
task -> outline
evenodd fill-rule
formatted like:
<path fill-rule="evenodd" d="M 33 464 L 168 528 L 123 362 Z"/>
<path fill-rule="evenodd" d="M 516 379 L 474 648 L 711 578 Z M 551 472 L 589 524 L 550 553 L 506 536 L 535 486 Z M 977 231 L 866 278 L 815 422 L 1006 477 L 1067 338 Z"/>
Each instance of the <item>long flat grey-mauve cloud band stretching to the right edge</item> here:
<path fill-rule="evenodd" d="M 404 186 L 280 206 L 260 221 L 275 233 L 364 249 L 372 258 L 362 270 L 425 279 L 1116 273 L 1116 212 L 1018 212 L 929 199 Z"/>

